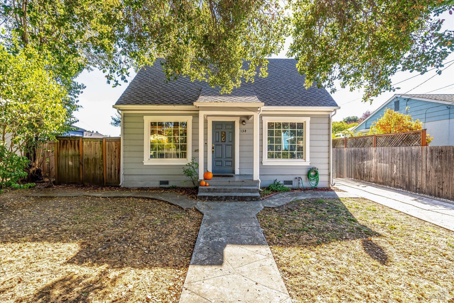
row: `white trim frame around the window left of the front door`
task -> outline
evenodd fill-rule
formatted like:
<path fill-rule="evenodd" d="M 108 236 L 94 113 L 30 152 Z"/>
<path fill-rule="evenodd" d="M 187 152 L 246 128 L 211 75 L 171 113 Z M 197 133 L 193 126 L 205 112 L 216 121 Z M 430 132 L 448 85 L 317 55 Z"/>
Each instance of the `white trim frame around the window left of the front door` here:
<path fill-rule="evenodd" d="M 188 135 L 186 138 L 187 159 L 150 159 L 150 122 L 186 122 Z M 192 115 L 181 116 L 143 116 L 143 164 L 145 165 L 184 165 L 192 159 Z"/>

